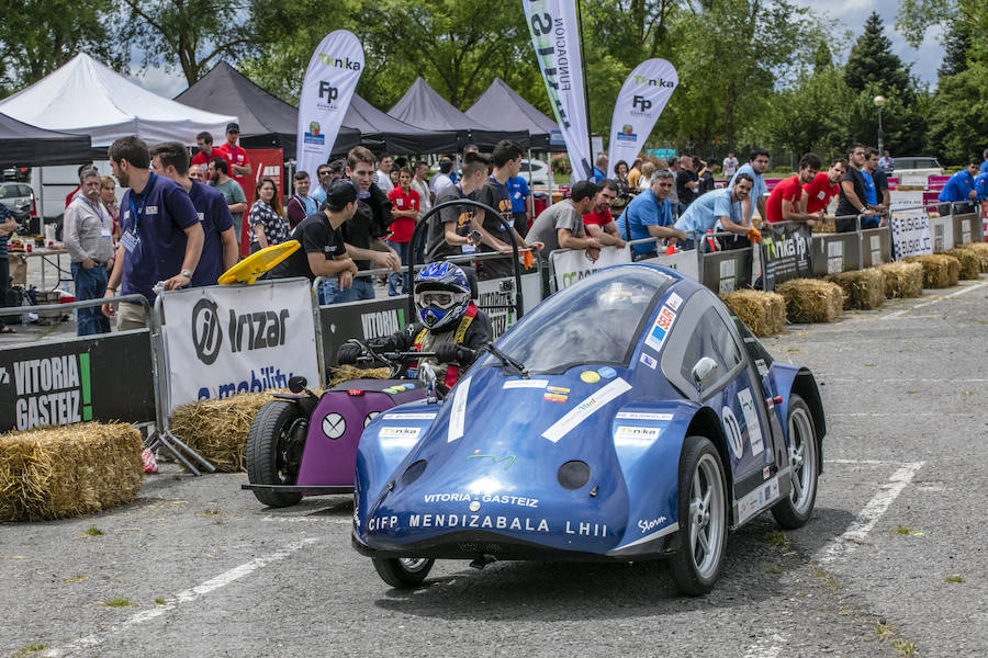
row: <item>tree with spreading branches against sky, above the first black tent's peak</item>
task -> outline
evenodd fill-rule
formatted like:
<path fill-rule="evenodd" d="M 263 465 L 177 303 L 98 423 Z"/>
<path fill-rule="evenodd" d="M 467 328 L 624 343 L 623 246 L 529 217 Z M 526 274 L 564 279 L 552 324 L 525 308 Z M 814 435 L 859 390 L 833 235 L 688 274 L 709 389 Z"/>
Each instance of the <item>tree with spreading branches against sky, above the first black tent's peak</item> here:
<path fill-rule="evenodd" d="M 256 45 L 248 9 L 247 0 L 123 0 L 121 38 L 144 52 L 145 67 L 177 67 L 191 86 Z"/>

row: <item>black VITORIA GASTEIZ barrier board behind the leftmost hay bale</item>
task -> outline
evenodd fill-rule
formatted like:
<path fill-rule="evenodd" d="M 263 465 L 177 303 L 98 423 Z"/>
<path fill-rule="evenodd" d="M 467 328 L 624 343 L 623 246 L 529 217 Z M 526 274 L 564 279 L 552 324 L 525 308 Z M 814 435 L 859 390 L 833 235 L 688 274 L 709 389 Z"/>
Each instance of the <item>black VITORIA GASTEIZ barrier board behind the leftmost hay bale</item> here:
<path fill-rule="evenodd" d="M 151 372 L 147 331 L 2 348 L 0 432 L 87 420 L 153 421 Z"/>

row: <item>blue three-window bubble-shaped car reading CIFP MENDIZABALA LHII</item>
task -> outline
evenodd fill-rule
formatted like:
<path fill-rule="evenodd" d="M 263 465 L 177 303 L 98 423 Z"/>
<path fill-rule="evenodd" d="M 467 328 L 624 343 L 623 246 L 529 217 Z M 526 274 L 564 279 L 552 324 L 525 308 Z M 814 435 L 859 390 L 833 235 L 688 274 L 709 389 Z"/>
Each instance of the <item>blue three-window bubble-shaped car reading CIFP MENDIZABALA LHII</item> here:
<path fill-rule="evenodd" d="M 642 561 L 708 592 L 728 532 L 812 518 L 826 434 L 809 370 L 773 362 L 675 270 L 602 270 L 544 299 L 445 400 L 375 417 L 353 547 L 392 587 L 437 558 Z"/>

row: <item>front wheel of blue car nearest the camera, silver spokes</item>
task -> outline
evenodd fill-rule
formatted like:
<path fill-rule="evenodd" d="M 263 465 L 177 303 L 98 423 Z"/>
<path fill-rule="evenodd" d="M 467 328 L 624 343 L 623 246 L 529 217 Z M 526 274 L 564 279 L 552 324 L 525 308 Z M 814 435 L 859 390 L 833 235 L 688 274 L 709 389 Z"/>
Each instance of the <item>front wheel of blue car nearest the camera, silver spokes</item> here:
<path fill-rule="evenodd" d="M 680 458 L 678 547 L 670 572 L 684 594 L 714 589 L 727 548 L 727 485 L 720 455 L 704 436 L 687 436 Z"/>

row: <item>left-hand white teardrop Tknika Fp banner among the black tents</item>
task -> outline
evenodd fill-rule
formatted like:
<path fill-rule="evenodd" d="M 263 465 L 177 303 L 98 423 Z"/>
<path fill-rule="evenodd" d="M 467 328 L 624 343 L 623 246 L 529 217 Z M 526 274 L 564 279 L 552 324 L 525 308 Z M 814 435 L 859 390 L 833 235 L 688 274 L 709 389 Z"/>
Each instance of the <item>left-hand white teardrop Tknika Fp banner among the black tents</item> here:
<path fill-rule="evenodd" d="M 363 46 L 351 32 L 330 32 L 316 47 L 299 98 L 296 171 L 315 173 L 333 143 L 363 71 Z"/>

